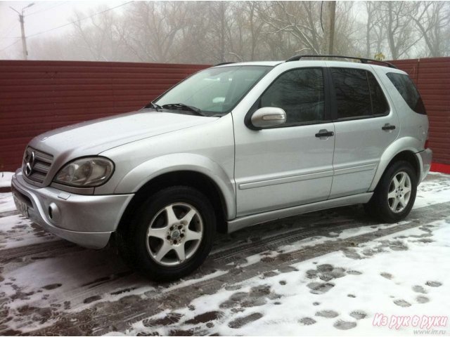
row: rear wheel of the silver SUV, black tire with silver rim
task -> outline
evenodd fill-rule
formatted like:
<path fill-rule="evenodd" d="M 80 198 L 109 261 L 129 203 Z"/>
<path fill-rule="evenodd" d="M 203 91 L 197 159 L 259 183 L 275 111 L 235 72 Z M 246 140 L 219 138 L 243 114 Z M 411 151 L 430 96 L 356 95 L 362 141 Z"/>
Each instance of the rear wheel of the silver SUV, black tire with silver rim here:
<path fill-rule="evenodd" d="M 417 176 L 413 166 L 408 161 L 396 161 L 383 173 L 371 200 L 364 204 L 364 209 L 369 216 L 396 223 L 408 216 L 416 193 Z"/>

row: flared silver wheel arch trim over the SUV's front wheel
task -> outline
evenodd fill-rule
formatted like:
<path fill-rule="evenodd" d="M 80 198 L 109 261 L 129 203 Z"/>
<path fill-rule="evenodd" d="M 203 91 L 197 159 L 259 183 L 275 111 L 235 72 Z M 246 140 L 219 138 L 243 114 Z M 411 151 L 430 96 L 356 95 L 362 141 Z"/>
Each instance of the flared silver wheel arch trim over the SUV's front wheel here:
<path fill-rule="evenodd" d="M 115 187 L 115 194 L 136 193 L 143 185 L 164 173 L 195 171 L 203 173 L 219 187 L 224 197 L 227 218 L 236 217 L 236 193 L 231 178 L 219 164 L 200 154 L 174 153 L 143 162 L 129 171 Z"/>

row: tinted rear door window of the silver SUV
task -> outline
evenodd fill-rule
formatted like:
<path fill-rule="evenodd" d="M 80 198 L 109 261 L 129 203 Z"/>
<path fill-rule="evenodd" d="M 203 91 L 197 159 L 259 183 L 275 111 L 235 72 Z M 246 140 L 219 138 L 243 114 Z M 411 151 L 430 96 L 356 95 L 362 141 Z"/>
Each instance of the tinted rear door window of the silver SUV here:
<path fill-rule="evenodd" d="M 389 106 L 380 84 L 371 72 L 361 69 L 331 68 L 338 119 L 383 116 Z"/>

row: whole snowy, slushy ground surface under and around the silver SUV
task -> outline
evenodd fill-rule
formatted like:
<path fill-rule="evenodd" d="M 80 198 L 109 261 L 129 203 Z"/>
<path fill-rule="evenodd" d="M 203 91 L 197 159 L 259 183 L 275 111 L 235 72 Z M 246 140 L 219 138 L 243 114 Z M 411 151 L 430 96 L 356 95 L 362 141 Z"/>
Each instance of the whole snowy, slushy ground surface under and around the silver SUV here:
<path fill-rule="evenodd" d="M 278 220 L 219 235 L 198 272 L 155 284 L 40 230 L 3 193 L 0 334 L 412 334 L 432 324 L 396 329 L 392 315 L 450 312 L 449 210 L 450 176 L 431 174 L 401 223 L 360 206 Z"/>

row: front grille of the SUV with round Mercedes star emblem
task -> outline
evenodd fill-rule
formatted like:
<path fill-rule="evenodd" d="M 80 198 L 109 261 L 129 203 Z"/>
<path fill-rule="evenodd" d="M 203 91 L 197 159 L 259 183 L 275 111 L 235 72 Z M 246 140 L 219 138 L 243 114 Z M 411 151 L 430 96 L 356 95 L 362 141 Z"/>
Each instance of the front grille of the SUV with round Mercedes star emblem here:
<path fill-rule="evenodd" d="M 32 147 L 27 147 L 23 155 L 22 171 L 26 178 L 43 183 L 50 171 L 53 156 Z"/>

